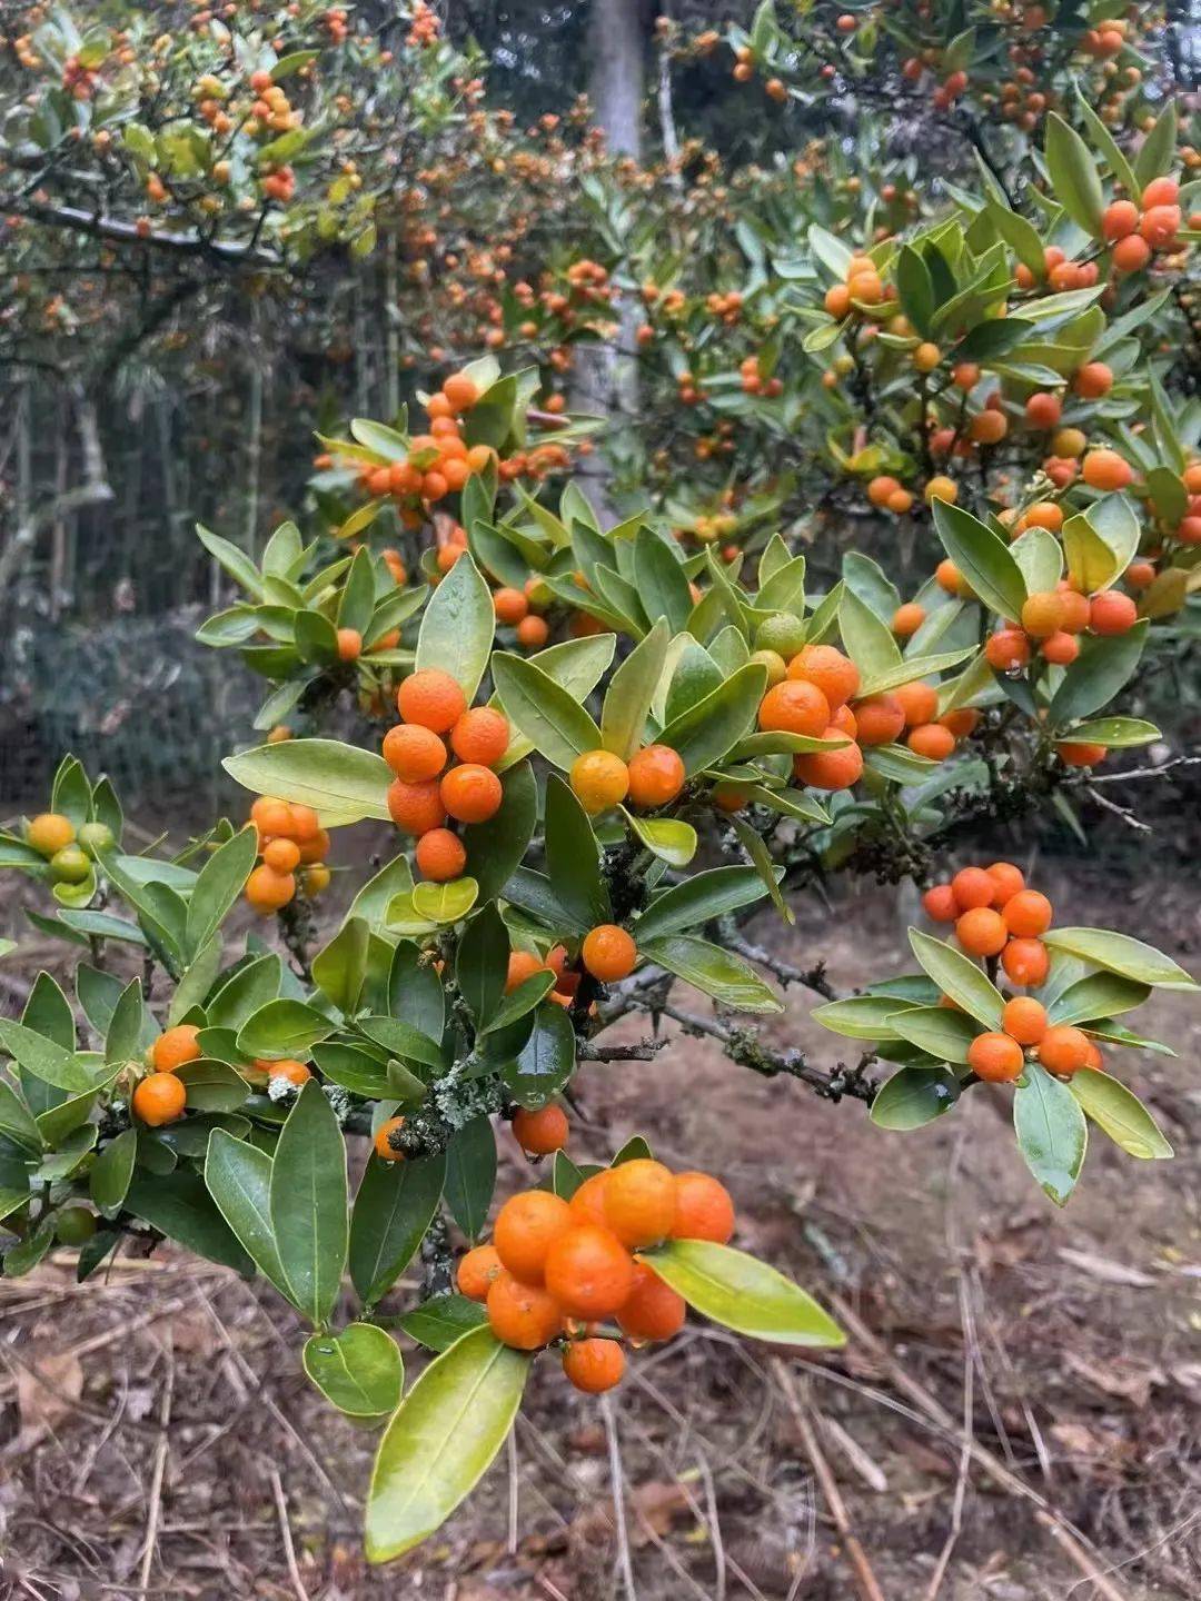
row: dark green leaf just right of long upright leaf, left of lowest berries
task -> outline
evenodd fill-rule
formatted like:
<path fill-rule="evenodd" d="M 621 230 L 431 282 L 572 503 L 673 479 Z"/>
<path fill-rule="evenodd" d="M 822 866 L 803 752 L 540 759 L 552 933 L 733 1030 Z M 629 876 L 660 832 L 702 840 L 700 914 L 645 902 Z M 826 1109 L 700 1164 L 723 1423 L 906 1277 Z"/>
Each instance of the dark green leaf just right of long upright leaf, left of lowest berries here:
<path fill-rule="evenodd" d="M 365 1306 L 388 1294 L 426 1236 L 442 1199 L 445 1156 L 364 1169 L 351 1217 L 351 1281 Z"/>

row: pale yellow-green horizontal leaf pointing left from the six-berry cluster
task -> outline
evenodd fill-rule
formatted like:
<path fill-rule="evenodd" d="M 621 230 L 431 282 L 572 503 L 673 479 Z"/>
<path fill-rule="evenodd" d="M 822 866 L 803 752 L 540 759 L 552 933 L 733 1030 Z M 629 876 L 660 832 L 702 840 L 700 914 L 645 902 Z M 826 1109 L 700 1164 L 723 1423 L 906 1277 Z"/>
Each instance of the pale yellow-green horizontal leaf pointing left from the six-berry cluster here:
<path fill-rule="evenodd" d="M 452 568 L 453 570 L 453 568 Z M 391 821 L 392 768 L 373 751 L 338 740 L 280 740 L 227 756 L 221 764 L 251 794 L 311 805 L 323 825 L 339 828 L 364 817 Z"/>

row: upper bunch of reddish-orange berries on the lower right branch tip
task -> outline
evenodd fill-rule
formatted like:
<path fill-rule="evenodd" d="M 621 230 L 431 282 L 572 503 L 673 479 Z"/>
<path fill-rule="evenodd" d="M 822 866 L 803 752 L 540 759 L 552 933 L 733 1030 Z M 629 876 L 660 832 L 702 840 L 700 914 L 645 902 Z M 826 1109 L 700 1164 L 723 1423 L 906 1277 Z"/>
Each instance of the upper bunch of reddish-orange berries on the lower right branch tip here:
<path fill-rule="evenodd" d="M 1046 980 L 1050 957 L 1041 937 L 1050 927 L 1052 906 L 1039 890 L 1026 889 L 1012 861 L 962 868 L 950 884 L 929 889 L 922 906 L 935 922 L 954 924 L 969 956 L 999 957 L 1012 985 L 1036 989 Z"/>

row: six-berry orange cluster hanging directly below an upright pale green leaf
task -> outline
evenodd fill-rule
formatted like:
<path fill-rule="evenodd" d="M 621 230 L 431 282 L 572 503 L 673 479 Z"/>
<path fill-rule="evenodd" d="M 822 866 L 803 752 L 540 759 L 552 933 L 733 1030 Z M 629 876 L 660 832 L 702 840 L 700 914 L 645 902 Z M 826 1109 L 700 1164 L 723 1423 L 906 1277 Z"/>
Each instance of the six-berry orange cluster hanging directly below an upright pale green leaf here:
<path fill-rule="evenodd" d="M 463 687 L 440 668 L 421 668 L 404 679 L 396 704 L 400 722 L 383 743 L 383 757 L 396 773 L 388 810 L 397 828 L 416 836 L 423 877 L 444 884 L 456 879 L 468 860 L 447 818 L 487 823 L 504 797 L 493 767 L 509 748 L 509 722 L 493 706 L 469 709 Z M 458 762 L 447 768 L 452 751 Z"/>

